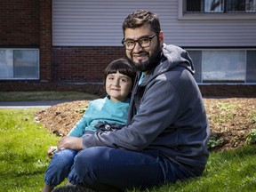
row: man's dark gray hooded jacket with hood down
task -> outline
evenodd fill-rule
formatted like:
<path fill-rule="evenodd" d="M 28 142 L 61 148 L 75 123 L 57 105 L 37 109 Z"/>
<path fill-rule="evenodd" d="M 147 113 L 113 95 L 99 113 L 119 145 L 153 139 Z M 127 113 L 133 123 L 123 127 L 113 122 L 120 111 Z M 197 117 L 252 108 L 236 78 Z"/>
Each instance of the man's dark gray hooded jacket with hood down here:
<path fill-rule="evenodd" d="M 200 175 L 209 156 L 210 128 L 193 74 L 188 52 L 164 44 L 159 64 L 140 85 L 135 83 L 127 125 L 116 132 L 86 135 L 84 148 L 154 148 L 191 175 Z"/>

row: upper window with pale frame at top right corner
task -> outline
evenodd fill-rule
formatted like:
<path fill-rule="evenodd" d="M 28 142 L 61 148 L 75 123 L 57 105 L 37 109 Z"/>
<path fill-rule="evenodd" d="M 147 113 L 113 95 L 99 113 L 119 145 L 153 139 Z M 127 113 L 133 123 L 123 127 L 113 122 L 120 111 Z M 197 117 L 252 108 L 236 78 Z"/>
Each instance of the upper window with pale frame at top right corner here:
<path fill-rule="evenodd" d="M 179 20 L 256 20 L 256 0 L 179 0 Z"/>

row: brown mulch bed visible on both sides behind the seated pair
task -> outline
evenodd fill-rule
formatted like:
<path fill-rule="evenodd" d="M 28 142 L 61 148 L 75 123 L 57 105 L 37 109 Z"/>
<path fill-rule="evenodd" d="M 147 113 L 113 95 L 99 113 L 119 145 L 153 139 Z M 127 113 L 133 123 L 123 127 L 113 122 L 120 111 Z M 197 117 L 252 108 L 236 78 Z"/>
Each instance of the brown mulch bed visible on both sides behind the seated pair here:
<path fill-rule="evenodd" d="M 47 130 L 63 136 L 84 115 L 90 100 L 61 103 L 39 111 L 36 120 Z M 210 150 L 244 146 L 246 135 L 256 129 L 256 98 L 204 98 L 211 126 Z"/>

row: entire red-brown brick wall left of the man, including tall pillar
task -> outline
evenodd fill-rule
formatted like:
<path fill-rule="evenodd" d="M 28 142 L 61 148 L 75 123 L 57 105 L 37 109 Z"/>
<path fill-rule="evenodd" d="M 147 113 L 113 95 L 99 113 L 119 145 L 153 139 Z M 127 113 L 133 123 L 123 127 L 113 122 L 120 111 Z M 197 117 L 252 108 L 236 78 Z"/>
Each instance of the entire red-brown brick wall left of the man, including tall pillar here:
<path fill-rule="evenodd" d="M 52 0 L 0 2 L 0 47 L 37 47 L 40 82 L 102 82 L 123 47 L 52 47 Z"/>

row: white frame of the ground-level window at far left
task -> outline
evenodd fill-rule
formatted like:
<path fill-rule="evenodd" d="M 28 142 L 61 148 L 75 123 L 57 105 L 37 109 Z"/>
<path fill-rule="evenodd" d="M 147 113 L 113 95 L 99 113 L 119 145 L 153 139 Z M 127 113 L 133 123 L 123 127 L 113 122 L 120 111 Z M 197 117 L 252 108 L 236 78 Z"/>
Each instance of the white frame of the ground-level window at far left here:
<path fill-rule="evenodd" d="M 40 50 L 38 48 L 4 48 L 1 47 L 0 50 L 11 50 L 12 51 L 12 59 L 14 55 L 14 51 L 36 51 L 36 56 L 37 56 L 37 76 L 35 77 L 2 77 L 0 76 L 0 81 L 3 80 L 39 80 L 40 79 Z M 14 60 L 12 60 L 12 68 L 14 68 Z"/>

